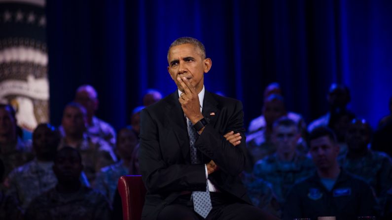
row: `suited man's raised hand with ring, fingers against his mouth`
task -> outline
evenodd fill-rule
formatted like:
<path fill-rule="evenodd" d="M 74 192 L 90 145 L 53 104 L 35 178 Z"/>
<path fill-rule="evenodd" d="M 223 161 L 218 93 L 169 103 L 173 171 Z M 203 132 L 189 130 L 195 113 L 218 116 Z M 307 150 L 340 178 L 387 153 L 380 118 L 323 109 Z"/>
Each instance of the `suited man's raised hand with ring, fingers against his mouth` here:
<path fill-rule="evenodd" d="M 193 87 L 185 77 L 178 77 L 177 81 L 184 89 L 183 93 L 178 98 L 178 101 L 181 104 L 185 116 L 194 125 L 203 118 L 203 115 L 200 112 L 199 95 L 197 94 L 195 87 Z"/>

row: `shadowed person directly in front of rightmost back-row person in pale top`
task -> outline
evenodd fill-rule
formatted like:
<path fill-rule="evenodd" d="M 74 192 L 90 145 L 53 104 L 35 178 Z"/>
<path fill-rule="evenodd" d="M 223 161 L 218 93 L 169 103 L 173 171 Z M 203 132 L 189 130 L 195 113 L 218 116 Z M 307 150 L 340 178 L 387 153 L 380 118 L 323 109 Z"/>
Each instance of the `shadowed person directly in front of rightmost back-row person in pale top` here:
<path fill-rule="evenodd" d="M 347 109 L 337 108 L 330 114 L 328 127 L 336 134 L 340 148 L 339 156 L 347 154 L 346 133 L 353 119 L 355 119 L 354 113 Z"/>

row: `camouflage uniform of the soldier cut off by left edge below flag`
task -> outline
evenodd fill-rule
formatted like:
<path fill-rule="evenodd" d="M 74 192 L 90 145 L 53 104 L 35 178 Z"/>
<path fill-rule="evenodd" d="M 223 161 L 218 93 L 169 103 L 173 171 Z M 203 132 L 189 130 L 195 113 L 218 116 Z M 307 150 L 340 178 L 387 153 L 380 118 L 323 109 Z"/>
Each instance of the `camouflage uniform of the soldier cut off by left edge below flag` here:
<path fill-rule="evenodd" d="M 34 158 L 31 141 L 17 139 L 16 144 L 0 145 L 0 159 L 4 163 L 4 178 L 16 167 L 25 164 Z"/>

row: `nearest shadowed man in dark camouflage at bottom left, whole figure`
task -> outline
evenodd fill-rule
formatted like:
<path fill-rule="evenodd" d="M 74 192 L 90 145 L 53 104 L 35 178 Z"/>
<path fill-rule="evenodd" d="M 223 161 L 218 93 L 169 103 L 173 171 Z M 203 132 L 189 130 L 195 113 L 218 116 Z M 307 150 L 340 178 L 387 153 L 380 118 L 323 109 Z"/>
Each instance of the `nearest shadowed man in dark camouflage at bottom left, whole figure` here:
<path fill-rule="evenodd" d="M 53 171 L 56 187 L 37 196 L 26 211 L 26 220 L 108 220 L 110 206 L 98 191 L 81 185 L 83 170 L 79 152 L 71 147 L 59 150 Z"/>

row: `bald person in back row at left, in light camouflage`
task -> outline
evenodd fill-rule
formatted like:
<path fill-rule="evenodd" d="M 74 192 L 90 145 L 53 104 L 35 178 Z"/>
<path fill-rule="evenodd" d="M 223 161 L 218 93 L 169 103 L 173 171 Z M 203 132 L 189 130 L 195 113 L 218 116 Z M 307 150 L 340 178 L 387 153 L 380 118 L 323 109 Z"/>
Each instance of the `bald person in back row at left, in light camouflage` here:
<path fill-rule="evenodd" d="M 113 127 L 95 116 L 99 101 L 94 87 L 82 85 L 77 88 L 74 101 L 86 109 L 86 134 L 91 138 L 103 139 L 114 148 L 116 133 Z M 62 126 L 60 126 L 60 131 L 64 136 L 65 132 Z"/>

